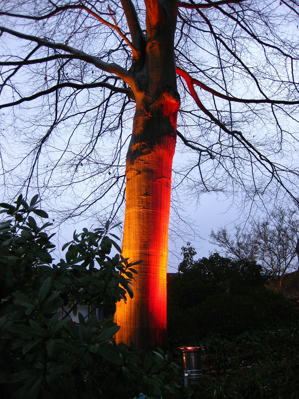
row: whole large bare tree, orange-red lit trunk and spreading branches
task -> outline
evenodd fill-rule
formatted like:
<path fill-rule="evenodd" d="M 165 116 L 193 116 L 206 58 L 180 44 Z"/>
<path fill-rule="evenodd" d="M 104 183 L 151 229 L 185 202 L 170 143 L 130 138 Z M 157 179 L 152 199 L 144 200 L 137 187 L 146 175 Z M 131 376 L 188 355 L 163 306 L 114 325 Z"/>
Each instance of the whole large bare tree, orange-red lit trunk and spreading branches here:
<path fill-rule="evenodd" d="M 175 192 L 297 201 L 297 160 L 285 157 L 298 146 L 297 14 L 293 0 L 1 3 L 3 183 L 66 198 L 72 217 L 102 202 L 112 218 L 126 174 L 122 253 L 143 263 L 117 311 L 120 340 L 166 339 L 177 136 L 189 162 L 175 167 Z"/>

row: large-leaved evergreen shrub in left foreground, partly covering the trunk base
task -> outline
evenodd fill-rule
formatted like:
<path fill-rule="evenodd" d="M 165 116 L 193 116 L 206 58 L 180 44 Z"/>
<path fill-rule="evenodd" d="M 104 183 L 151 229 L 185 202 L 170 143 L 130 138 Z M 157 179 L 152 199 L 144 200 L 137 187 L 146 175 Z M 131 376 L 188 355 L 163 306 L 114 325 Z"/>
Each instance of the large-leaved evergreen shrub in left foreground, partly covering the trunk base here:
<path fill-rule="evenodd" d="M 79 304 L 115 307 L 133 296 L 134 263 L 108 256 L 112 245 L 120 252 L 109 223 L 75 232 L 63 246 L 65 259 L 51 265 L 55 245 L 44 231 L 51 223 L 37 225 L 32 215 L 48 217 L 38 203 L 37 195 L 29 204 L 21 195 L 15 205 L 0 204 L 8 215 L 0 223 L 2 397 L 130 398 L 140 392 L 175 397 L 179 371 L 170 353 L 148 354 L 143 369 L 139 349 L 116 346 L 115 323 L 100 328 L 95 316 L 79 313 L 77 326 L 69 317 Z"/>

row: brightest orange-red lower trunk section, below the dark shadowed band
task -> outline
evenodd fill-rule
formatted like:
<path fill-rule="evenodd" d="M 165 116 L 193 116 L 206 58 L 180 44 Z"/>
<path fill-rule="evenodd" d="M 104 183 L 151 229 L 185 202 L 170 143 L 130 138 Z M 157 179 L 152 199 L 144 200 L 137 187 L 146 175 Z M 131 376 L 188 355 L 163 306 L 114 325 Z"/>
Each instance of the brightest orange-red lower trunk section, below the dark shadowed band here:
<path fill-rule="evenodd" d="M 127 167 L 126 209 L 122 254 L 142 259 L 137 266 L 134 297 L 120 302 L 116 321 L 120 342 L 166 341 L 166 271 L 173 137 L 164 136 L 153 151 Z M 150 168 L 148 167 L 151 165 Z M 132 239 L 134 237 L 134 239 Z"/>

